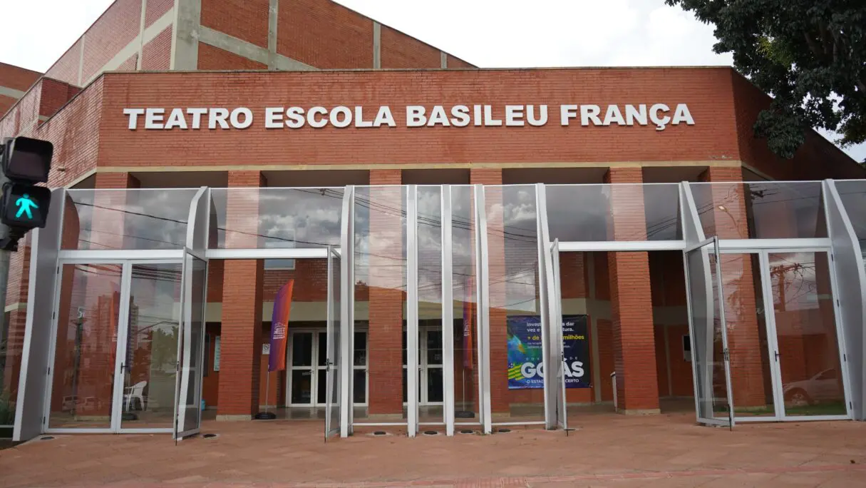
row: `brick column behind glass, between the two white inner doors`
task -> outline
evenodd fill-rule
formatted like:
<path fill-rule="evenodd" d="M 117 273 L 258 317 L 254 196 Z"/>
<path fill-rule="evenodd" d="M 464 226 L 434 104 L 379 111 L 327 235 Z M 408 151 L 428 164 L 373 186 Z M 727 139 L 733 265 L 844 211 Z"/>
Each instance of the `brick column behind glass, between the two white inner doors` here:
<path fill-rule="evenodd" d="M 400 170 L 372 170 L 370 185 L 400 185 Z M 370 188 L 369 307 L 367 338 L 369 413 L 403 416 L 404 209 L 400 186 Z"/>

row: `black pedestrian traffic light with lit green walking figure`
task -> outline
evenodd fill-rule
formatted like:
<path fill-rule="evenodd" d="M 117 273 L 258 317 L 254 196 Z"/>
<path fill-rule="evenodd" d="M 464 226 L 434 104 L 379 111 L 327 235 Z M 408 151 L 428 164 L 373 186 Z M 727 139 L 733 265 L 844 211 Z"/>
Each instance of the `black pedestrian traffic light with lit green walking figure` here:
<path fill-rule="evenodd" d="M 37 183 L 48 182 L 54 146 L 47 140 L 16 137 L 0 146 L 3 194 L 0 196 L 0 223 L 8 231 L 0 249 L 16 251 L 17 243 L 30 229 L 45 227 L 51 191 Z"/>

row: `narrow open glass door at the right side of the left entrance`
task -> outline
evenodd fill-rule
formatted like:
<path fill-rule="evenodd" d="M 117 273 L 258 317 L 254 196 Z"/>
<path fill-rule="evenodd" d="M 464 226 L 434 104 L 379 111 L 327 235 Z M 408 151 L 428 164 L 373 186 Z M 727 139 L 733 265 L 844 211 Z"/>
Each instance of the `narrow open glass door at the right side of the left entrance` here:
<path fill-rule="evenodd" d="M 340 385 L 339 329 L 340 329 L 340 265 L 339 254 L 331 247 L 327 253 L 327 328 L 326 328 L 326 413 L 325 439 L 339 433 Z"/>

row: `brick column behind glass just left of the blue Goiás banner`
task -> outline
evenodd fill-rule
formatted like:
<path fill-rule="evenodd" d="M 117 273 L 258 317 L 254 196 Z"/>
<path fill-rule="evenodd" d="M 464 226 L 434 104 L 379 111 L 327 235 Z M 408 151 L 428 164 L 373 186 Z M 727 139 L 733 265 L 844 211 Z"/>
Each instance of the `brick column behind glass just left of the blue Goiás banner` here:
<path fill-rule="evenodd" d="M 469 172 L 469 183 L 472 185 L 501 185 L 502 170 L 500 168 L 472 169 Z M 493 205 L 502 205 L 501 190 L 484 192 L 484 205 L 481 209 L 486 212 Z M 505 223 L 502 215 L 491 216 L 488 214 L 487 221 L 487 249 L 481 253 L 488 255 L 488 286 L 489 299 L 488 311 L 490 319 L 490 403 L 493 413 L 510 413 L 510 401 L 508 399 L 508 330 L 507 330 L 507 303 L 506 281 L 507 276 L 505 259 Z M 479 256 L 479 259 L 481 256 Z M 481 365 L 484 368 L 484 365 Z"/>

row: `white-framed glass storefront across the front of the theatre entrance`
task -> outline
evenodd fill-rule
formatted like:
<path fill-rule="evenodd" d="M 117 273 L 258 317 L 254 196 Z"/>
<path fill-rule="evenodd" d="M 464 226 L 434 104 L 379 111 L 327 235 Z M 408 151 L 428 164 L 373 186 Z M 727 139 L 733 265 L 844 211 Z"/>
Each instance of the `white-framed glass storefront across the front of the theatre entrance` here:
<path fill-rule="evenodd" d="M 21 374 L 46 413 L 29 432 L 171 430 L 178 415 L 194 431 L 216 353 L 204 304 L 222 299 L 204 276 L 233 259 L 294 277 L 296 295 L 326 286 L 320 322 L 289 326 L 272 396 L 327 407 L 328 432 L 555 428 L 662 397 L 694 397 L 708 424 L 862 416 L 862 323 L 856 342 L 856 304 L 837 297 L 866 286 L 866 182 L 58 192 L 35 250 L 59 264 L 36 283 L 53 340 L 24 352 L 53 374 L 43 398 L 36 366 Z M 848 250 L 856 272 L 837 261 Z M 326 258 L 305 281 L 300 260 Z M 651 283 L 630 287 L 640 270 Z M 664 377 L 650 389 L 629 373 L 646 349 Z"/>

